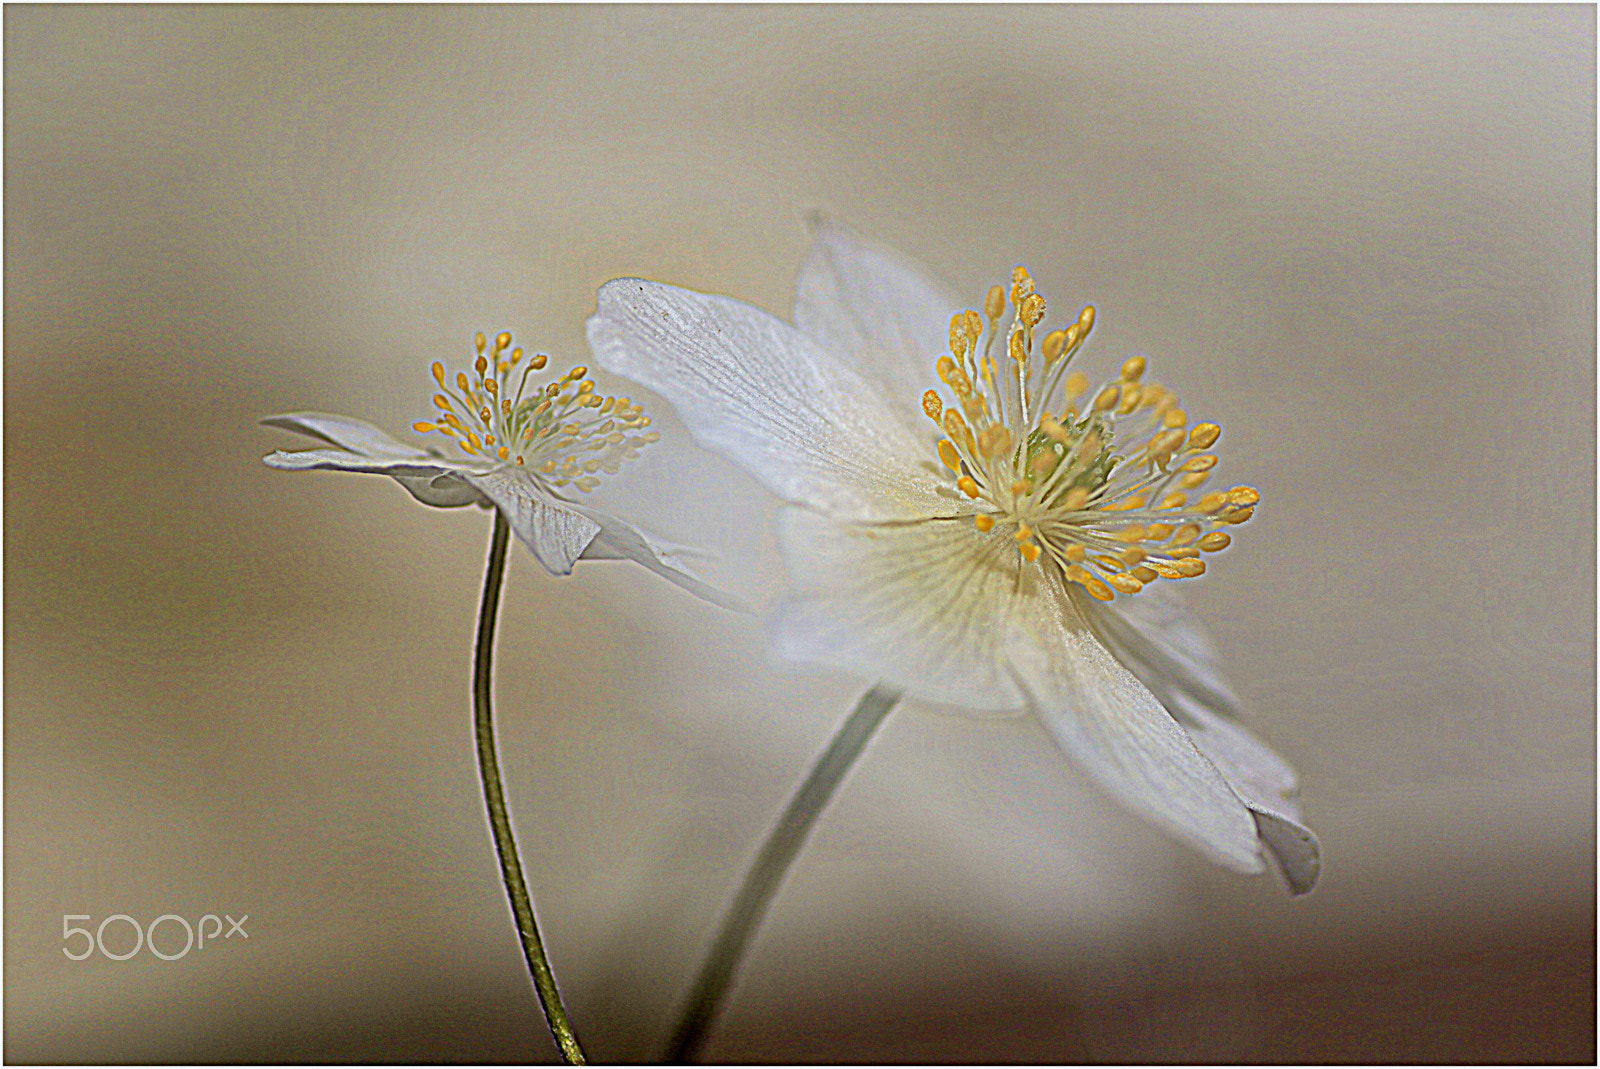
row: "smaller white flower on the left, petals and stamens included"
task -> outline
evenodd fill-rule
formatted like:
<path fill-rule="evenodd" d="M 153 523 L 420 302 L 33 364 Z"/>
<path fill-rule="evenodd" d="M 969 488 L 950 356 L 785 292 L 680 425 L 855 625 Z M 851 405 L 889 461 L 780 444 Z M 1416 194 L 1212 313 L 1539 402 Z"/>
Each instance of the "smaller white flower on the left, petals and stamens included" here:
<path fill-rule="evenodd" d="M 658 539 L 598 509 L 578 504 L 562 490 L 594 490 L 598 474 L 614 474 L 646 445 L 661 438 L 645 430 L 650 418 L 626 397 L 602 397 L 587 368 L 578 366 L 547 384 L 530 386 L 549 357 L 523 362 L 510 334 L 493 349 L 477 336 L 475 374 L 458 373 L 451 387 L 445 365 L 434 363 L 438 384 L 434 421 L 422 434 L 451 440 L 462 456 L 421 450 L 349 416 L 298 411 L 262 419 L 272 427 L 322 438 L 334 450 L 277 450 L 269 467 L 333 469 L 390 475 L 422 504 L 499 509 L 517 538 L 550 575 L 571 573 L 582 560 L 634 560 L 699 597 L 722 605 L 730 599 L 696 579 Z M 512 386 L 515 378 L 515 386 Z"/>

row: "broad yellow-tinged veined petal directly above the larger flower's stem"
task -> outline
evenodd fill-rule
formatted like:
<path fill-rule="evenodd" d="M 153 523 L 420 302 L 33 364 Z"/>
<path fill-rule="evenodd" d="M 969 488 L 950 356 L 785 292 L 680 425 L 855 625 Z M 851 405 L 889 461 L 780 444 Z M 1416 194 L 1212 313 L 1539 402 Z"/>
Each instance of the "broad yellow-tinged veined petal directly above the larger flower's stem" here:
<path fill-rule="evenodd" d="M 1030 592 L 1018 591 L 1000 539 L 955 517 L 870 523 L 805 509 L 784 509 L 778 530 L 790 578 L 773 618 L 779 655 L 925 701 L 1022 707 L 998 624 Z"/>

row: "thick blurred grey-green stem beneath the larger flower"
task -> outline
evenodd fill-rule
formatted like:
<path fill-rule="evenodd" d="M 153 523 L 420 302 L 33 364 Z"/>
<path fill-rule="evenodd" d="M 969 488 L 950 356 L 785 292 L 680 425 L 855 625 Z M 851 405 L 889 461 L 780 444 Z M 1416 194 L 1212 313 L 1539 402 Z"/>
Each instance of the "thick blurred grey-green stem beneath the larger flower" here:
<path fill-rule="evenodd" d="M 806 835 L 811 834 L 811 826 L 827 807 L 829 799 L 834 797 L 845 773 L 861 757 L 861 751 L 866 749 L 867 741 L 872 739 L 878 725 L 883 723 L 883 717 L 899 698 L 901 691 L 882 683 L 862 695 L 834 741 L 811 767 L 811 773 L 800 784 L 795 797 L 789 800 L 789 808 L 766 835 L 744 883 L 733 896 L 733 904 L 728 906 L 722 930 L 717 933 L 717 941 L 712 943 L 706 963 L 701 965 L 694 989 L 662 1061 L 685 1063 L 699 1053 L 710 1026 L 715 1023 L 717 1011 L 722 1008 L 723 995 L 726 995 L 733 973 L 744 955 L 744 947 L 762 923 L 784 874 L 795 855 L 800 853 Z"/>

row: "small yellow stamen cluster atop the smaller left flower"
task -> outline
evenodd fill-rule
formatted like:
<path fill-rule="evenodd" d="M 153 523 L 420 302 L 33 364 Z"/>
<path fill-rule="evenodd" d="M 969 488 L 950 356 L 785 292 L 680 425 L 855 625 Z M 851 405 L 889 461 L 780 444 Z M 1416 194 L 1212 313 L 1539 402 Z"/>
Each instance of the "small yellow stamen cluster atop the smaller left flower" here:
<path fill-rule="evenodd" d="M 589 368 L 576 366 L 554 382 L 528 389 L 528 374 L 542 371 L 549 357 L 538 354 L 523 363 L 522 349 L 510 349 L 510 334 L 499 334 L 494 347 L 478 334 L 474 378 L 456 373 L 456 389 L 445 384 L 445 365 L 434 363 L 437 422 L 413 424 L 422 434 L 438 432 L 456 442 L 469 456 L 499 459 L 506 466 L 528 466 L 552 486 L 571 483 L 578 490 L 600 485 L 595 472 L 616 474 L 622 461 L 661 440 L 654 430 L 629 434 L 650 426 L 650 416 L 626 397 L 602 397 Z M 510 352 L 507 352 L 510 349 Z M 522 365 L 517 392 L 506 386 Z"/>

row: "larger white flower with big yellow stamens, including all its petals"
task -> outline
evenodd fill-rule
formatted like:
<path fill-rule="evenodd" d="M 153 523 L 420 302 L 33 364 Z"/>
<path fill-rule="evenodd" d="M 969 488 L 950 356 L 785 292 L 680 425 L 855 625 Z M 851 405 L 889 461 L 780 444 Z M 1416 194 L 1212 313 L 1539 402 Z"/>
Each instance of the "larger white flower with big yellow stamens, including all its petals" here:
<path fill-rule="evenodd" d="M 979 315 L 821 224 L 795 326 L 619 278 L 589 344 L 797 506 L 781 518 L 782 655 L 925 701 L 1030 709 L 1133 811 L 1230 869 L 1272 858 L 1309 891 L 1318 853 L 1294 773 L 1238 723 L 1168 589 L 1205 571 L 1259 494 L 1200 490 L 1221 429 L 1190 429 L 1142 357 L 1093 389 L 1067 373 L 1093 309 L 1040 336 L 1043 317 L 1021 267 Z"/>

